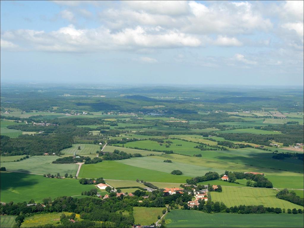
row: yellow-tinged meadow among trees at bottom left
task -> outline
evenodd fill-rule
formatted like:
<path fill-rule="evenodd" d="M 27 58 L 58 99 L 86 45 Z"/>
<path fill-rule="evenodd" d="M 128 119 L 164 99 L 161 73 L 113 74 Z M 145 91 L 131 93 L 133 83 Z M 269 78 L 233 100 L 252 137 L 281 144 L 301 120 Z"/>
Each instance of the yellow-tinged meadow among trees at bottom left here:
<path fill-rule="evenodd" d="M 65 215 L 71 215 L 71 212 L 63 212 Z M 26 217 L 24 222 L 21 224 L 20 227 L 34 227 L 34 226 L 43 226 L 45 224 L 53 224 L 55 225 L 57 222 L 60 222 L 60 216 L 62 213 L 47 213 L 47 214 L 36 214 L 33 216 Z M 76 214 L 75 218 L 80 221 L 79 214 Z M 61 224 L 61 223 L 59 223 Z"/>

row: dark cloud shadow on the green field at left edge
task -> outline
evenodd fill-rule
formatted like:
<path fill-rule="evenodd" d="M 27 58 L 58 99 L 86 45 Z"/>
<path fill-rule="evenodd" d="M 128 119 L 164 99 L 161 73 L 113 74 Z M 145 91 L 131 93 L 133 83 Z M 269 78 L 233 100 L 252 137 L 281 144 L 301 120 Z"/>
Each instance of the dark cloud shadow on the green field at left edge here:
<path fill-rule="evenodd" d="M 29 172 L 28 170 L 22 170 L 19 172 Z M 1 172 L 0 173 L 0 188 L 1 190 L 7 190 L 9 188 L 26 187 L 37 184 L 39 181 L 31 180 L 27 178 L 29 175 L 26 173 L 15 173 L 15 172 Z M 41 176 L 42 178 L 42 176 Z"/>

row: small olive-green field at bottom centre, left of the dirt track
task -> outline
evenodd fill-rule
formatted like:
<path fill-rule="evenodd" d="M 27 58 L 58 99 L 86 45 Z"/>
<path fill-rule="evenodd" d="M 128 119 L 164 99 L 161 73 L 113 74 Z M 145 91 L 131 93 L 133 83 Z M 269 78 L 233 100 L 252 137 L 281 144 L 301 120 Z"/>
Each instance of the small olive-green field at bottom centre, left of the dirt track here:
<path fill-rule="evenodd" d="M 135 224 L 150 225 L 155 223 L 157 216 L 162 216 L 164 207 L 133 207 L 133 216 Z"/>

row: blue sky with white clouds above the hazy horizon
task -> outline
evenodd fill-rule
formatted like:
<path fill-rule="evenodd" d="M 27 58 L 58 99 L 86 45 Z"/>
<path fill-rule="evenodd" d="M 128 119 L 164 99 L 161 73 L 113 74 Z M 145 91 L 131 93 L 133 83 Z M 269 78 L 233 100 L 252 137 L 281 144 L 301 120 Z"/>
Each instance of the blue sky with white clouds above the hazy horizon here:
<path fill-rule="evenodd" d="M 1 1 L 1 82 L 304 84 L 304 1 Z"/>

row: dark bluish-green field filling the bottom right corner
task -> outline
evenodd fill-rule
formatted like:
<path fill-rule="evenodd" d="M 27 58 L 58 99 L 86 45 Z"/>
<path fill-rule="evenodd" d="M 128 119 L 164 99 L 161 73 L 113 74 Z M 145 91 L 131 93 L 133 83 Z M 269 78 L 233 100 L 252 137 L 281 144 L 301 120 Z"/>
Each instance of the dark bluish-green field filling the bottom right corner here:
<path fill-rule="evenodd" d="M 165 216 L 166 227 L 303 227 L 302 214 L 208 214 L 174 209 Z"/>

